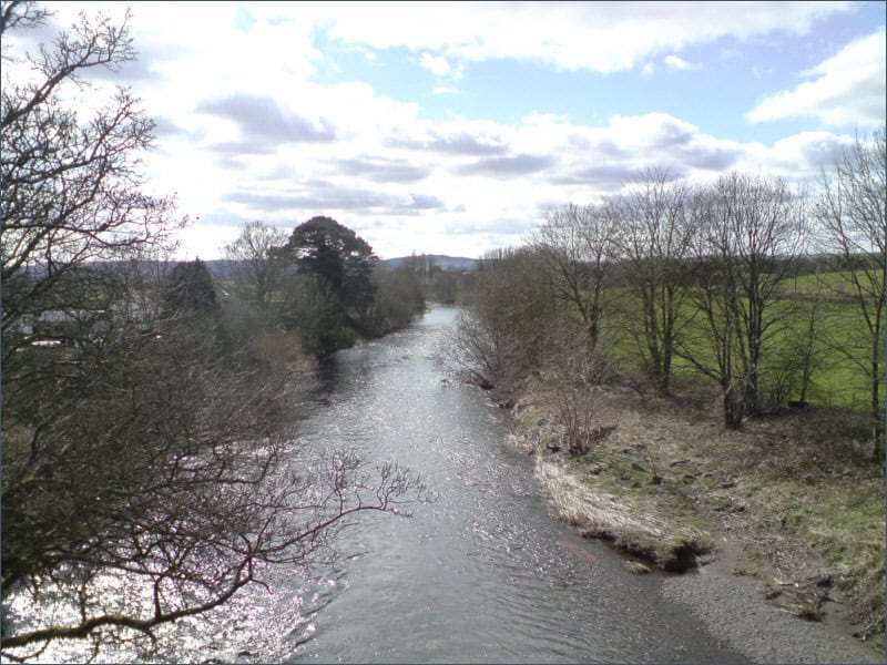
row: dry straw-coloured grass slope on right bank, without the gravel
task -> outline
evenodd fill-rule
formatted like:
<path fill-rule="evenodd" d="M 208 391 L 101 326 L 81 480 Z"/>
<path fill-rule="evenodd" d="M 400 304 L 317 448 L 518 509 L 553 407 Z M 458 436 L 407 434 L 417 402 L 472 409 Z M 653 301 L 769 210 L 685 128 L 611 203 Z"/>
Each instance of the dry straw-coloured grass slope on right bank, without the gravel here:
<path fill-rule="evenodd" d="M 573 457 L 549 452 L 563 429 L 552 392 L 538 389 L 516 411 L 559 516 L 583 534 L 663 569 L 717 543 L 786 611 L 819 618 L 836 600 L 860 636 L 884 633 L 885 487 L 864 420 L 819 409 L 733 432 L 708 390 L 662 400 L 611 389 L 595 395 L 588 426 L 615 430 Z"/>

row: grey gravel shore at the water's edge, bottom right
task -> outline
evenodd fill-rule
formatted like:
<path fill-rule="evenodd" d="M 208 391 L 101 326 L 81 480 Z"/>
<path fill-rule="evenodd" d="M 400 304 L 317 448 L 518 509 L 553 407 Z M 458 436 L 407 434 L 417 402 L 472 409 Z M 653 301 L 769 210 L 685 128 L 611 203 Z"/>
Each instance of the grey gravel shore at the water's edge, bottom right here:
<path fill-rule="evenodd" d="M 883 663 L 884 656 L 829 626 L 787 614 L 717 566 L 663 581 L 663 595 L 754 663 Z"/>

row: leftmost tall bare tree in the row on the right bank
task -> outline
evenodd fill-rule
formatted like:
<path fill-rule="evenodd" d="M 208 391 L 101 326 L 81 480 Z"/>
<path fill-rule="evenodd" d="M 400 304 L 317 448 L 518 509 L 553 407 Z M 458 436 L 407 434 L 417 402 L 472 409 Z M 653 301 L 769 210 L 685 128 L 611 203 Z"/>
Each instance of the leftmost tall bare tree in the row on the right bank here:
<path fill-rule="evenodd" d="M 610 208 L 570 204 L 551 211 L 531 241 L 548 265 L 555 297 L 581 318 L 592 354 L 601 339 L 616 229 Z"/>

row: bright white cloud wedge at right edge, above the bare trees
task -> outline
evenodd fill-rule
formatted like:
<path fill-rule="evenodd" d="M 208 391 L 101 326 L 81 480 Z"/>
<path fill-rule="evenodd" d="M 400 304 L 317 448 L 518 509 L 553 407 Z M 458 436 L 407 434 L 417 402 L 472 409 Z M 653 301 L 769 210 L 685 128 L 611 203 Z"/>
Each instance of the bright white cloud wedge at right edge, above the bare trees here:
<path fill-rule="evenodd" d="M 852 41 L 804 72 L 812 81 L 765 96 L 745 117 L 753 123 L 815 117 L 827 126 L 881 124 L 887 110 L 884 44 L 884 28 Z"/>

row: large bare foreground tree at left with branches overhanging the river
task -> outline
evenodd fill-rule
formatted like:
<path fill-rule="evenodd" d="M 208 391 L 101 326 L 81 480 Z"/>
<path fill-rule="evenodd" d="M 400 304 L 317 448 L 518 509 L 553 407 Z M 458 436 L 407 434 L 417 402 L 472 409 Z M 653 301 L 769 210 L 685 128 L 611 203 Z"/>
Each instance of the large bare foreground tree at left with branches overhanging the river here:
<path fill-rule="evenodd" d="M 0 16 L 3 37 L 45 19 L 20 2 Z M 261 582 L 264 564 L 332 554 L 349 515 L 418 487 L 354 454 L 295 456 L 288 377 L 220 355 L 194 334 L 198 308 L 146 275 L 144 253 L 176 226 L 171 202 L 139 188 L 153 123 L 125 91 L 88 120 L 61 94 L 134 58 L 125 23 L 83 18 L 26 61 L 32 78 L 3 58 L 1 582 L 30 603 L 4 616 L 0 651 L 20 661 L 61 638 L 96 653 L 151 640 Z M 32 344 L 55 309 L 94 316 L 75 318 L 71 344 Z M 43 617 L 49 605 L 67 618 Z"/>

